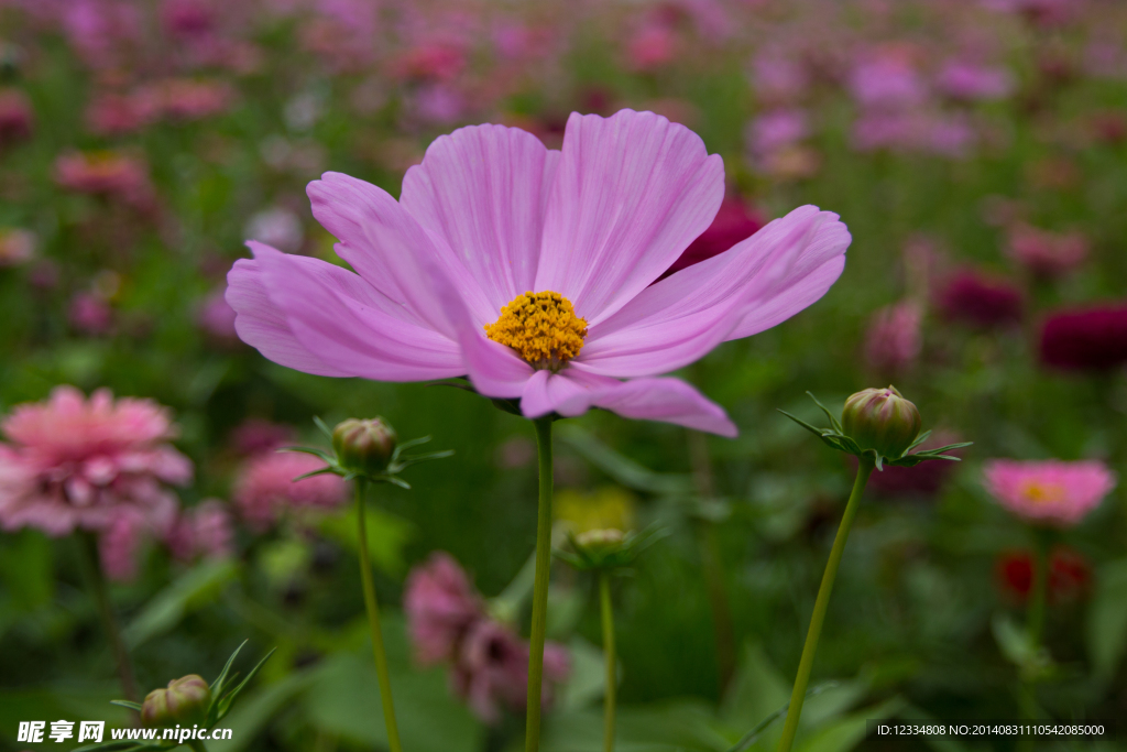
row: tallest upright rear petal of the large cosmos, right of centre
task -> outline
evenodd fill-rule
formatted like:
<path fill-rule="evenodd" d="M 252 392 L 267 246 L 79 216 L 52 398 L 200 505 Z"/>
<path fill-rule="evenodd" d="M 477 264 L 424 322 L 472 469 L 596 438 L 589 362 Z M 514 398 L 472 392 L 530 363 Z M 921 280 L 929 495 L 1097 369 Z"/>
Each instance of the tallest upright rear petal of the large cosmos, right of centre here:
<path fill-rule="evenodd" d="M 630 109 L 573 114 L 533 287 L 594 326 L 669 268 L 722 200 L 724 161 L 689 129 Z"/>

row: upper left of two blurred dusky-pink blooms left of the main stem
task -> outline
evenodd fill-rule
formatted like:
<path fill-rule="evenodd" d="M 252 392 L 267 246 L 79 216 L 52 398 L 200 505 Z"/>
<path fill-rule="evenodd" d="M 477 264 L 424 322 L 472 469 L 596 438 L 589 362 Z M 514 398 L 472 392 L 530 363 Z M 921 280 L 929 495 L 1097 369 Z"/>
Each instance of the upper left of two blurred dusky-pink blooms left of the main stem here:
<path fill-rule="evenodd" d="M 403 612 L 415 660 L 434 665 L 454 660 L 470 627 L 485 618 L 485 603 L 458 561 L 436 551 L 407 577 Z"/>

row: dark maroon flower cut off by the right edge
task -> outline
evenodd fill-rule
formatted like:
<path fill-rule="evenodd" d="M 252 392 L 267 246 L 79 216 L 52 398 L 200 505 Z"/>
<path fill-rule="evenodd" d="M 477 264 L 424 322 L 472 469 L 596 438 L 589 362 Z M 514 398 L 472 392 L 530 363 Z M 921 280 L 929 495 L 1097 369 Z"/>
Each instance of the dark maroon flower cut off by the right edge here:
<path fill-rule="evenodd" d="M 1102 371 L 1127 363 L 1127 306 L 1062 311 L 1041 327 L 1041 362 L 1061 369 Z"/>

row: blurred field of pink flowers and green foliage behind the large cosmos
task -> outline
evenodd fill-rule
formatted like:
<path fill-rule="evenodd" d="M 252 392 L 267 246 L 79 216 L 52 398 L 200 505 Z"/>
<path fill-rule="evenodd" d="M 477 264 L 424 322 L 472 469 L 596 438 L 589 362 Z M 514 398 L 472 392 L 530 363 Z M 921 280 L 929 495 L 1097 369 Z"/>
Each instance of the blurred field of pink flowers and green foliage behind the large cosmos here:
<path fill-rule="evenodd" d="M 1020 749 L 1127 743 L 1127 7 L 0 0 L 0 750 L 39 749 L 24 720 L 130 723 L 91 567 L 140 697 L 277 648 L 207 749 L 387 749 L 352 492 L 275 451 L 376 415 L 453 451 L 370 489 L 403 747 L 523 749 L 532 424 L 273 363 L 227 274 L 248 239 L 346 266 L 305 194 L 325 171 L 398 196 L 460 126 L 559 149 L 571 112 L 623 108 L 724 159 L 669 273 L 804 204 L 852 244 L 824 298 L 677 372 L 738 437 L 556 424 L 557 546 L 655 533 L 610 583 L 618 749 L 726 752 L 787 704 L 857 461 L 778 410 L 887 384 L 925 449 L 974 444 L 873 472 L 795 749 L 1019 749 L 866 720 L 1030 714 L 1109 733 Z M 601 750 L 596 581 L 551 582 L 541 749 Z"/>

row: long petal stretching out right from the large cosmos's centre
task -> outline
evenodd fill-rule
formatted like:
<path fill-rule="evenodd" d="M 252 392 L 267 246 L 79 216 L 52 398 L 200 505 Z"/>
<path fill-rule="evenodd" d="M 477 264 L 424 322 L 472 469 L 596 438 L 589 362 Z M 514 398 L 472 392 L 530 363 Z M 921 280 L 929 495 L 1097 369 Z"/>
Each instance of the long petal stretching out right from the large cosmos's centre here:
<path fill-rule="evenodd" d="M 591 328 L 577 359 L 614 377 L 668 373 L 726 339 L 773 326 L 825 293 L 850 237 L 831 212 L 801 206 L 731 249 L 644 290 Z M 816 294 L 815 294 L 816 293 Z"/>

